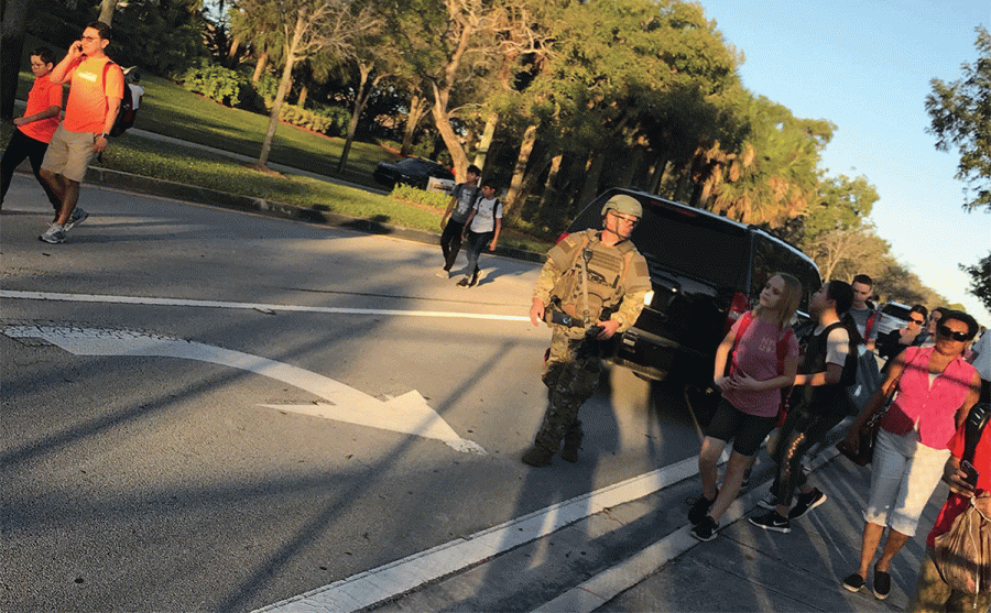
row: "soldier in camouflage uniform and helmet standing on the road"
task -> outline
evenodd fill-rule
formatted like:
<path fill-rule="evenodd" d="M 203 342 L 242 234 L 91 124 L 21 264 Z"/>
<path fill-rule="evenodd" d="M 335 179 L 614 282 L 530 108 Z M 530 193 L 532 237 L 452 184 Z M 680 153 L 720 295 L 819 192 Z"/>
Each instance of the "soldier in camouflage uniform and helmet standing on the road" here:
<path fill-rule="evenodd" d="M 613 196 L 602 216 L 603 230 L 570 234 L 547 253 L 533 289 L 530 319 L 534 326 L 546 319 L 553 335 L 542 377 L 549 402 L 536 442 L 523 455 L 530 466 L 548 466 L 562 440 L 560 457 L 578 461 L 578 408 L 599 382 L 598 341 L 633 326 L 651 289 L 646 261 L 628 240 L 643 216 L 640 202 Z"/>

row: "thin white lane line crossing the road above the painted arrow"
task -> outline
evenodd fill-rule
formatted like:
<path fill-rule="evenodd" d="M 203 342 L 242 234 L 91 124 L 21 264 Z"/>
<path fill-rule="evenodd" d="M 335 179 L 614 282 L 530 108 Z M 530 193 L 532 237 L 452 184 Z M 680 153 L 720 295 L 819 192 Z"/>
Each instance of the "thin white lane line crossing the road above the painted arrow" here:
<path fill-rule="evenodd" d="M 313 307 L 298 305 L 270 305 L 263 303 L 231 303 L 225 300 L 192 300 L 185 298 L 150 298 L 141 296 L 109 296 L 99 294 L 59 294 L 54 292 L 20 292 L 17 289 L 0 289 L 0 298 L 14 298 L 25 300 L 61 300 L 70 303 L 109 303 L 122 305 L 153 305 L 153 306 L 186 306 L 231 308 L 261 311 L 297 311 L 297 313 L 328 313 L 337 315 L 392 315 L 396 317 L 438 317 L 449 319 L 489 319 L 492 321 L 530 321 L 526 315 L 493 315 L 489 313 L 454 313 L 443 310 L 398 310 L 380 308 L 344 308 L 344 307 Z"/>

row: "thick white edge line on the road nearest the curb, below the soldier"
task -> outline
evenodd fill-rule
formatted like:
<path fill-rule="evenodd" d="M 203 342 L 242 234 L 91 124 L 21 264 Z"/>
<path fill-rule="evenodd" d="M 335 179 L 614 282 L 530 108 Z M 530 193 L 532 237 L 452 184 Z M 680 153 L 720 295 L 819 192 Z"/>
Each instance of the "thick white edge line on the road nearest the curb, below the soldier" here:
<path fill-rule="evenodd" d="M 258 613 L 364 609 L 695 474 L 698 474 L 698 459 L 693 457 L 277 602 L 258 610 Z"/>

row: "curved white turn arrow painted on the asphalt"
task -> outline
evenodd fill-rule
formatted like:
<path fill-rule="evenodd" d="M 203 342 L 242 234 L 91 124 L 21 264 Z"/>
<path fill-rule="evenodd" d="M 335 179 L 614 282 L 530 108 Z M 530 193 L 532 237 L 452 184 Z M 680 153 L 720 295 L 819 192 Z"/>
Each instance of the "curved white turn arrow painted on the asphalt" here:
<path fill-rule="evenodd" d="M 8 326 L 3 333 L 11 338 L 42 338 L 75 355 L 183 358 L 258 373 L 305 390 L 329 403 L 263 406 L 432 438 L 458 451 L 486 455 L 480 446 L 459 437 L 415 390 L 382 402 L 344 383 L 283 362 L 131 330 L 35 325 Z"/>

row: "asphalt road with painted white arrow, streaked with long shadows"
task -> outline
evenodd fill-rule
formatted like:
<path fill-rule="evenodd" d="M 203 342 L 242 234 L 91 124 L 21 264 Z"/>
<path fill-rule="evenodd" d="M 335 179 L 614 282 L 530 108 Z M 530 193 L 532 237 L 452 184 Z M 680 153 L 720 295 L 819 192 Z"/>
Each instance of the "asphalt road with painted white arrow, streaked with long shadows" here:
<path fill-rule="evenodd" d="M 250 611 L 698 451 L 677 391 L 612 371 L 577 464 L 544 407 L 535 264 L 18 175 L 0 217 L 3 611 Z M 464 259 L 461 260 L 464 263 Z"/>

